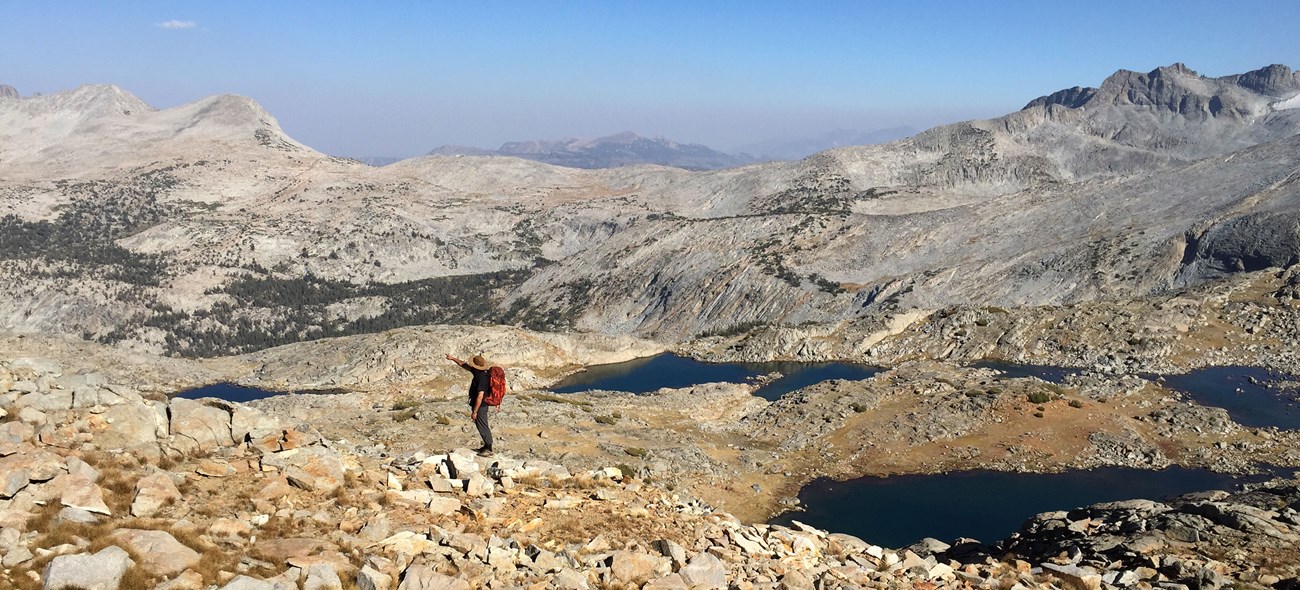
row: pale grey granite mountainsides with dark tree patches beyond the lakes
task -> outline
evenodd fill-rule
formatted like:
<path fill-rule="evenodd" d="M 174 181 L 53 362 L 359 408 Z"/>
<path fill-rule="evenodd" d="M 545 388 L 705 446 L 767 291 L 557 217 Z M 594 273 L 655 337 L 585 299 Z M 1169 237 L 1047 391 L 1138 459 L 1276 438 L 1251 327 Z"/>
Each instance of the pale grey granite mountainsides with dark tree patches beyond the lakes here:
<path fill-rule="evenodd" d="M 8 97 L 0 274 L 27 289 L 0 322 L 211 355 L 428 324 L 676 340 L 1157 292 L 1294 264 L 1295 78 L 1119 71 L 996 120 L 714 172 L 370 168 L 242 97 Z"/>

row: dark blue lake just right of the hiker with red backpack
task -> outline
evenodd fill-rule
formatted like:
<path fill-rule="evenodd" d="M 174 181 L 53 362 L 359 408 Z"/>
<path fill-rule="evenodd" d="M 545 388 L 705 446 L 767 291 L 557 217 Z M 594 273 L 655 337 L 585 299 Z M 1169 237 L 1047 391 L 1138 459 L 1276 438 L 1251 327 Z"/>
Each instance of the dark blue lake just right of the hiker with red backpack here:
<path fill-rule="evenodd" d="M 852 363 L 701 363 L 672 353 L 610 365 L 593 365 L 562 381 L 551 391 L 576 394 L 608 390 L 645 394 L 660 387 L 690 387 L 699 383 L 742 383 L 768 373 L 783 377 L 754 392 L 775 400 L 790 391 L 827 379 L 866 379 L 880 369 Z"/>

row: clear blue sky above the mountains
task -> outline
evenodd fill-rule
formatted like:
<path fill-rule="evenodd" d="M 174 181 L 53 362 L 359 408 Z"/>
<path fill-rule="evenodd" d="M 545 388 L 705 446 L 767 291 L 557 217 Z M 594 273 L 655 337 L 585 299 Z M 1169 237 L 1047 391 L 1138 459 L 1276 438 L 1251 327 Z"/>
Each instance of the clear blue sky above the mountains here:
<path fill-rule="evenodd" d="M 1297 22 L 1294 0 L 0 0 L 0 83 L 239 94 L 348 156 L 624 130 L 733 149 L 998 116 L 1117 69 L 1297 68 Z"/>

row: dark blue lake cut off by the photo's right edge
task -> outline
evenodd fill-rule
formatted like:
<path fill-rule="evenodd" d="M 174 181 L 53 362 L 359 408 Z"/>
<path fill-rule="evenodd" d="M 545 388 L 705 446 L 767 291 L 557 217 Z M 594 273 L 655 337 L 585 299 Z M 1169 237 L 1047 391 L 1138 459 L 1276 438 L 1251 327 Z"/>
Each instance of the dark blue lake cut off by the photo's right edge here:
<path fill-rule="evenodd" d="M 1254 378 L 1258 385 L 1251 383 Z M 1266 387 L 1286 376 L 1253 366 L 1208 366 L 1183 374 L 1165 376 L 1165 386 L 1187 394 L 1201 405 L 1223 408 L 1243 426 L 1300 429 L 1296 391 Z"/>

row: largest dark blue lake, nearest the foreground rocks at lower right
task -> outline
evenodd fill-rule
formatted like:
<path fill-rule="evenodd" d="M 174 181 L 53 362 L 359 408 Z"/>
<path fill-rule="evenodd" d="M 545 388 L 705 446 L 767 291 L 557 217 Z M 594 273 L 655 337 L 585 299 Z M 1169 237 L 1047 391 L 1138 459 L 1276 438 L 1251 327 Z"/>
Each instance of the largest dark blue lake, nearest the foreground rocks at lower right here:
<path fill-rule="evenodd" d="M 846 482 L 816 480 L 800 491 L 806 512 L 792 520 L 849 533 L 870 543 L 905 547 L 924 537 L 952 542 L 968 537 L 992 543 L 1019 530 L 1040 512 L 1071 509 L 1134 498 L 1158 500 L 1204 490 L 1232 490 L 1234 478 L 1204 469 L 1160 472 L 1106 468 L 1054 474 L 961 472 L 939 476 L 863 477 Z"/>

